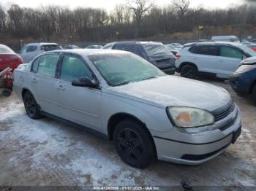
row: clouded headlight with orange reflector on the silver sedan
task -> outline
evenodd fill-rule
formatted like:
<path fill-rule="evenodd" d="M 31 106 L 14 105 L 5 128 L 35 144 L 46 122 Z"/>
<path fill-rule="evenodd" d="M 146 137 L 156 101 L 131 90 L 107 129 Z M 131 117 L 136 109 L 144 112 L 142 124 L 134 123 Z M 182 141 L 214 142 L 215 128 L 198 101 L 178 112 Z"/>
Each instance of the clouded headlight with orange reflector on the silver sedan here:
<path fill-rule="evenodd" d="M 184 106 L 170 106 L 167 112 L 178 128 L 197 128 L 214 123 L 214 116 L 203 110 Z"/>

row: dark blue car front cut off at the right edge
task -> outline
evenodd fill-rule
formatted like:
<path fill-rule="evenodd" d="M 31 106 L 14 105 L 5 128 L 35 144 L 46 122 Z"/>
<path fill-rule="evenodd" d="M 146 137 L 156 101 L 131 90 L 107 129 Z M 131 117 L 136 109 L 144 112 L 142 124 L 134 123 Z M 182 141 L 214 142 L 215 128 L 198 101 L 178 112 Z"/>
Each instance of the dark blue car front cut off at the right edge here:
<path fill-rule="evenodd" d="M 256 102 L 256 57 L 246 58 L 229 77 L 230 85 L 238 95 L 252 97 Z"/>

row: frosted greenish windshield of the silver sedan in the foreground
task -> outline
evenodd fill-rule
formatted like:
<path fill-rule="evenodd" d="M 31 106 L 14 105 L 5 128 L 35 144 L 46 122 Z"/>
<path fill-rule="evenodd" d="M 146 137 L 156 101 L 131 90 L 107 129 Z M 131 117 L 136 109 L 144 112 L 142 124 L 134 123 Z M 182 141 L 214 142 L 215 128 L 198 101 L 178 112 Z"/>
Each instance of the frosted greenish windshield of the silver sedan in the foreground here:
<path fill-rule="evenodd" d="M 129 53 L 104 53 L 90 55 L 89 60 L 94 63 L 102 77 L 110 86 L 139 82 L 166 74 L 138 55 Z"/>

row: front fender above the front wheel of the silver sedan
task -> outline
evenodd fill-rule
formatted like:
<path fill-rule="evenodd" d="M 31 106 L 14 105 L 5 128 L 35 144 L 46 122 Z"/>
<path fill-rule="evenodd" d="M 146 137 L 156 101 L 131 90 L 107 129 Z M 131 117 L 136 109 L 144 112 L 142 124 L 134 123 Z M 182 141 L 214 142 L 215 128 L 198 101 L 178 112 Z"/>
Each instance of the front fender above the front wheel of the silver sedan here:
<path fill-rule="evenodd" d="M 102 126 L 108 134 L 108 121 L 114 114 L 129 114 L 143 122 L 148 130 L 165 132 L 173 128 L 165 108 L 145 104 L 110 93 L 102 93 Z"/>

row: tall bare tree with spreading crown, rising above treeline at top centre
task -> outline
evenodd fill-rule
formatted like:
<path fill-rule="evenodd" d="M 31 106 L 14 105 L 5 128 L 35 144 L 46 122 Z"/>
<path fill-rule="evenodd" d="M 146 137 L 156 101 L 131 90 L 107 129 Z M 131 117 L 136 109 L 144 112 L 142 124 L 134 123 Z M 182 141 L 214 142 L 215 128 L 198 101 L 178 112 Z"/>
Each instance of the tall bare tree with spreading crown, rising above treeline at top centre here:
<path fill-rule="evenodd" d="M 137 26 L 137 33 L 135 37 L 138 38 L 140 36 L 140 26 L 143 17 L 152 7 L 154 7 L 154 3 L 150 0 L 127 0 L 127 8 L 133 12 Z"/>

